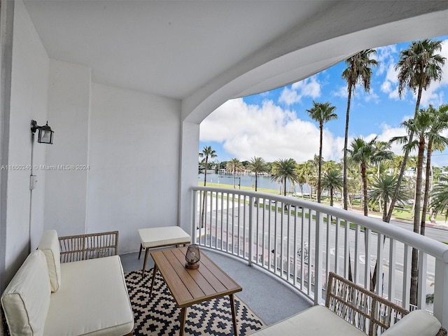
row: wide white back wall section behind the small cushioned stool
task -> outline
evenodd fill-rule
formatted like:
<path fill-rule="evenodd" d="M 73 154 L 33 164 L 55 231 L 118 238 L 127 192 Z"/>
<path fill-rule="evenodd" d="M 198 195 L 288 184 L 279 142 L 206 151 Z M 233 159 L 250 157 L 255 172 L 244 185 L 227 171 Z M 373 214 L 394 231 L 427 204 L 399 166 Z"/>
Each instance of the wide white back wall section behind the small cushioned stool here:
<path fill-rule="evenodd" d="M 139 228 L 177 225 L 180 102 L 92 85 L 87 232 L 120 230 L 120 253 Z"/>

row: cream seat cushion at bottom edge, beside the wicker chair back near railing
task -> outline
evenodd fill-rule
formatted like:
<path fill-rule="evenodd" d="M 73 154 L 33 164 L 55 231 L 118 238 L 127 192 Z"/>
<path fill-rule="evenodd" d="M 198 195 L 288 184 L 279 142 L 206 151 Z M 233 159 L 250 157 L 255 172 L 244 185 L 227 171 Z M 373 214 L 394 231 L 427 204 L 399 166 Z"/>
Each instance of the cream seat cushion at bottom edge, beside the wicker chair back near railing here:
<path fill-rule="evenodd" d="M 251 334 L 251 336 L 279 335 L 365 336 L 365 333 L 337 316 L 327 307 L 314 306 Z"/>

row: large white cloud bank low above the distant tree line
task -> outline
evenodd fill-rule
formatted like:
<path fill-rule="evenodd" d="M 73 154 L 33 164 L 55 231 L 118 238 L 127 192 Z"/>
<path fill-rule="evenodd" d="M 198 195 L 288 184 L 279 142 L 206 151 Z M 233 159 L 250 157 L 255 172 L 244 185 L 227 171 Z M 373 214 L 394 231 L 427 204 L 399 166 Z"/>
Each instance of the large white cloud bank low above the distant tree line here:
<path fill-rule="evenodd" d="M 211 113 L 200 125 L 201 141 L 218 141 L 232 157 L 250 160 L 253 156 L 268 162 L 293 158 L 304 162 L 318 154 L 318 125 L 300 120 L 295 112 L 272 101 L 262 106 L 232 99 Z M 323 134 L 323 158 L 338 160 L 344 139 L 328 130 Z"/>

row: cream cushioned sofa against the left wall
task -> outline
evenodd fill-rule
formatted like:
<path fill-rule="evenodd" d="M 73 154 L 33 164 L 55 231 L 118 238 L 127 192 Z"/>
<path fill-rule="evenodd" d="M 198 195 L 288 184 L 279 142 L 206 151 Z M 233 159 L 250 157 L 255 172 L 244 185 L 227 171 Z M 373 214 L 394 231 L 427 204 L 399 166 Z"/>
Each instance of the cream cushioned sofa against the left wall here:
<path fill-rule="evenodd" d="M 57 232 L 45 231 L 4 290 L 10 335 L 132 335 L 134 314 L 120 257 L 61 263 L 60 255 Z"/>

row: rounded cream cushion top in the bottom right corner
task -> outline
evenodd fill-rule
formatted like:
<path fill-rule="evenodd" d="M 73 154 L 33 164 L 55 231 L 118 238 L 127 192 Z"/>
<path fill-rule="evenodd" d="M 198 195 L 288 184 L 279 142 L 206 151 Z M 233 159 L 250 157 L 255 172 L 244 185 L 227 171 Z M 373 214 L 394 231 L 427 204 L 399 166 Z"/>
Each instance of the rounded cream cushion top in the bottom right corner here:
<path fill-rule="evenodd" d="M 414 310 L 388 328 L 383 336 L 435 336 L 441 324 L 437 318 L 424 310 Z"/>

